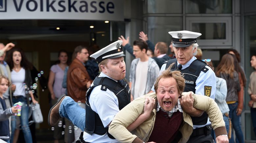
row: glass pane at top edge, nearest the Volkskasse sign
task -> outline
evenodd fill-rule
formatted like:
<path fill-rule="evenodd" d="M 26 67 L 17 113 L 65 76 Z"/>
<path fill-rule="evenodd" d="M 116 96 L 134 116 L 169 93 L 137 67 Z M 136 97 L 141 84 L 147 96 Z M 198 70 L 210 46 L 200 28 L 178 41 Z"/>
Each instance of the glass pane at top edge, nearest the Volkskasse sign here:
<path fill-rule="evenodd" d="M 147 0 L 148 13 L 182 13 L 182 0 Z"/>

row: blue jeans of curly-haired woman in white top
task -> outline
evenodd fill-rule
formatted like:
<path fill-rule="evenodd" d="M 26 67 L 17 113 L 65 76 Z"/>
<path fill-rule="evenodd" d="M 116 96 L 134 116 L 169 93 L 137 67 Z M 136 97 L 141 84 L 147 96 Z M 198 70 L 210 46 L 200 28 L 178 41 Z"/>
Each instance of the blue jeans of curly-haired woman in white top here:
<path fill-rule="evenodd" d="M 23 105 L 21 106 L 21 116 L 19 116 L 20 123 L 21 123 L 21 129 L 24 135 L 24 139 L 26 143 L 32 143 L 32 135 L 29 129 L 28 125 L 28 113 L 29 113 L 29 105 L 27 105 L 27 98 L 26 97 L 19 97 L 17 99 L 13 98 L 13 103 L 17 102 L 23 102 Z M 27 106 L 26 106 L 27 105 Z M 16 128 L 16 116 L 12 116 L 12 121 L 11 121 L 11 126 L 12 126 L 12 136 L 11 136 L 11 143 L 13 142 L 13 135 L 14 131 Z"/>

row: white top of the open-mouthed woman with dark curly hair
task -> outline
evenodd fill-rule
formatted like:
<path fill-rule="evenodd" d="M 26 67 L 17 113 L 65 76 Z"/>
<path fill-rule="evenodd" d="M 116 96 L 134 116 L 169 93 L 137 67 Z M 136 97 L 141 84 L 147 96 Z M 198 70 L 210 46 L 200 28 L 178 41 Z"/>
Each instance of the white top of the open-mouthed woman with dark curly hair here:
<path fill-rule="evenodd" d="M 14 70 L 11 72 L 11 80 L 12 84 L 16 85 L 15 92 L 13 93 L 13 96 L 24 96 L 25 89 L 23 87 L 23 83 L 25 82 L 25 69 L 21 68 L 19 72 L 15 72 Z"/>

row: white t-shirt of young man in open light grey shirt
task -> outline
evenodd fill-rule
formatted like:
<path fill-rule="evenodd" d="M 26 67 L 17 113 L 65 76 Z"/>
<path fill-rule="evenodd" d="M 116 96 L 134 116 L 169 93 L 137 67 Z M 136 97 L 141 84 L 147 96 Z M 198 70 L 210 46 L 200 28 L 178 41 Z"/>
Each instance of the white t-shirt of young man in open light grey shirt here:
<path fill-rule="evenodd" d="M 141 62 L 141 60 L 139 60 L 136 66 L 136 72 L 135 72 L 135 84 L 134 84 L 134 95 L 133 95 L 134 99 L 144 95 L 146 84 L 147 84 L 147 72 L 148 72 L 148 61 Z"/>

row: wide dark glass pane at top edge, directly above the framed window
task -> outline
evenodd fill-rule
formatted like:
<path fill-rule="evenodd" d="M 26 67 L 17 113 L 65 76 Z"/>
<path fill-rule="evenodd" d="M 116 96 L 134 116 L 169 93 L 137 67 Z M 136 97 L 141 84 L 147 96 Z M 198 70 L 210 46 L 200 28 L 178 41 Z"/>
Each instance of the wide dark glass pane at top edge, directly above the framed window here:
<path fill-rule="evenodd" d="M 232 13 L 232 0 L 186 0 L 186 13 Z"/>

